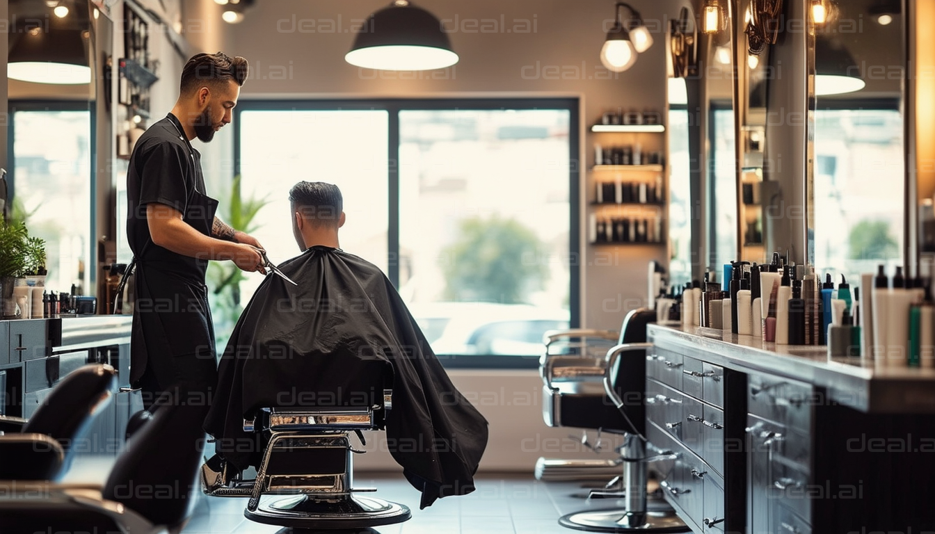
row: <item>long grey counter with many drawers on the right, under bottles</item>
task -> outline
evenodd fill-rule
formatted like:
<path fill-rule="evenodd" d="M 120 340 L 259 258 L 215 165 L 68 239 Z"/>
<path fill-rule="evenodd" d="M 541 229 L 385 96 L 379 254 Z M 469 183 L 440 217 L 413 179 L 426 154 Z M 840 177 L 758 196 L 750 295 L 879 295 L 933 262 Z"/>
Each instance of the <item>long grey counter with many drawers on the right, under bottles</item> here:
<path fill-rule="evenodd" d="M 935 369 L 650 325 L 646 434 L 696 532 L 935 529 Z"/>

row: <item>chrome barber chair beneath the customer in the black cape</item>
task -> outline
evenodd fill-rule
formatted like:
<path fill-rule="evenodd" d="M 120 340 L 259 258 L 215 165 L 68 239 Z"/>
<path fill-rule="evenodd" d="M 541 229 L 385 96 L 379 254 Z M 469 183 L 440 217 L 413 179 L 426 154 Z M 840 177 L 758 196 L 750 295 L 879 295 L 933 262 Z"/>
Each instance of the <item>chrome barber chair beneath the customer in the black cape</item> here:
<path fill-rule="evenodd" d="M 393 408 L 393 390 L 369 387 L 369 404 L 264 408 L 244 430 L 259 432 L 266 442 L 252 481 L 233 480 L 220 487 L 204 485 L 214 497 L 247 497 L 244 515 L 257 523 L 294 528 L 367 528 L 392 525 L 411 517 L 409 507 L 381 498 L 355 495 L 376 488 L 353 487 L 352 458 L 364 451 L 352 447 L 353 433 L 384 428 Z M 206 469 L 203 466 L 202 469 Z M 203 483 L 207 477 L 203 477 Z M 264 495 L 292 497 L 261 502 Z"/>

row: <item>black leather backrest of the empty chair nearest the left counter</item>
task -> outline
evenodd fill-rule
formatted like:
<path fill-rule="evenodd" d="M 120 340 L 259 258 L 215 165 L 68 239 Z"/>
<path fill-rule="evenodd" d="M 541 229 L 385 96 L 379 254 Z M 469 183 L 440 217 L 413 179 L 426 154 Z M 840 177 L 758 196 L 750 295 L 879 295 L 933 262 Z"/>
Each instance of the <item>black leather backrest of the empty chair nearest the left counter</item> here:
<path fill-rule="evenodd" d="M 45 434 L 61 443 L 65 454 L 91 426 L 94 413 L 113 397 L 117 371 L 106 364 L 89 364 L 69 373 L 22 426 L 22 432 Z"/>

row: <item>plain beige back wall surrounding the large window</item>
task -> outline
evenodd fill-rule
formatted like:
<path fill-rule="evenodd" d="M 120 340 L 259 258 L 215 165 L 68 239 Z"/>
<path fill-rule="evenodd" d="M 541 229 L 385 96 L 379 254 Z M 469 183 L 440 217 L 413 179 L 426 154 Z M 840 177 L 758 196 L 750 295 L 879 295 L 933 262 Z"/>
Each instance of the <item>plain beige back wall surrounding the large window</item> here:
<path fill-rule="evenodd" d="M 213 4 L 213 0 L 197 1 Z M 611 0 L 420 1 L 420 7 L 458 30 L 450 36 L 460 55 L 457 65 L 423 74 L 376 73 L 344 62 L 344 54 L 352 46 L 353 25 L 387 5 L 383 0 L 257 2 L 244 22 L 228 28 L 232 45 L 225 51 L 251 62 L 251 79 L 244 85 L 241 99 L 580 97 L 582 166 L 586 167 L 592 164 L 592 139 L 585 132 L 604 110 L 666 109 L 664 29 L 668 28 L 668 17 L 677 16 L 682 3 L 638 0 L 637 4 L 654 32 L 655 43 L 640 55 L 636 65 L 619 75 L 606 71 L 598 58 L 613 18 Z M 526 26 L 531 27 L 531 33 L 512 31 Z M 481 33 L 481 27 L 497 31 Z M 300 28 L 307 31 L 299 32 Z M 477 33 L 472 32 L 475 28 Z M 308 31 L 312 29 L 316 31 Z M 643 150 L 663 150 L 664 137 L 657 140 L 658 146 L 644 140 Z M 584 185 L 582 198 L 584 213 L 588 199 Z M 596 251 L 583 245 L 584 325 L 618 328 L 626 310 L 640 306 L 646 298 L 647 262 L 662 261 L 665 255 L 664 246 Z M 540 455 L 594 457 L 577 438 L 568 438 L 578 434 L 576 429 L 548 428 L 542 422 L 542 382 L 536 371 L 453 370 L 450 374 L 465 395 L 477 400 L 475 404 L 490 421 L 490 442 L 482 469 L 531 470 Z M 397 469 L 389 455 L 380 452 L 379 442 L 367 449 L 373 453 L 355 458 L 359 467 Z"/>

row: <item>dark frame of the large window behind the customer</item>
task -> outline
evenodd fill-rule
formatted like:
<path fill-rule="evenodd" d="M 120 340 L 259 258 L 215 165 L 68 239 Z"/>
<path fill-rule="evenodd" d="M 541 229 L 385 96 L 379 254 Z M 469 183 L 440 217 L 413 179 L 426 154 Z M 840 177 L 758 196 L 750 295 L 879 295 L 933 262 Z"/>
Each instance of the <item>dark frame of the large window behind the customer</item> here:
<path fill-rule="evenodd" d="M 389 162 L 399 161 L 399 112 L 432 110 L 561 109 L 568 111 L 568 325 L 581 324 L 581 121 L 578 98 L 366 98 L 366 99 L 248 99 L 234 108 L 234 168 L 230 180 L 240 174 L 240 114 L 244 111 L 359 111 L 381 110 L 389 116 L 387 154 Z M 387 272 L 394 287 L 399 286 L 399 168 L 387 165 L 388 217 Z M 539 356 L 494 354 L 439 354 L 446 368 L 538 368 Z"/>

